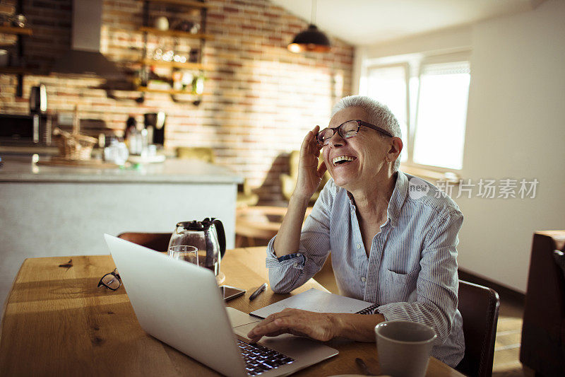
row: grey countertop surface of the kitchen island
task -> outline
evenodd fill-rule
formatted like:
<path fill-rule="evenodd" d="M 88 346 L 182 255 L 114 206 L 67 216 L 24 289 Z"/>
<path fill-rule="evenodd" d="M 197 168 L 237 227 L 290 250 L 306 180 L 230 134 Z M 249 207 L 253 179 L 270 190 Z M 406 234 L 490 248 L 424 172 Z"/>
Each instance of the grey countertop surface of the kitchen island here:
<path fill-rule="evenodd" d="M 138 168 L 76 168 L 38 166 L 30 158 L 7 158 L 0 182 L 153 182 L 241 183 L 242 178 L 223 166 L 198 160 L 167 159 Z"/>

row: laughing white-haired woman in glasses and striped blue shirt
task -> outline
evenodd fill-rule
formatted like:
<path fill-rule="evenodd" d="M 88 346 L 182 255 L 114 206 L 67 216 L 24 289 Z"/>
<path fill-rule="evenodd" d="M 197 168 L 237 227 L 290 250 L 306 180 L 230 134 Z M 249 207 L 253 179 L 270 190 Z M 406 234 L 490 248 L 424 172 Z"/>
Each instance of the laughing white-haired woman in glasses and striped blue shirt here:
<path fill-rule="evenodd" d="M 456 261 L 463 214 L 433 185 L 426 195 L 409 195 L 413 177 L 398 170 L 402 148 L 396 117 L 359 95 L 342 98 L 330 126 L 306 135 L 295 192 L 267 248 L 270 285 L 278 293 L 301 286 L 331 251 L 341 294 L 379 306 L 371 315 L 286 309 L 254 327 L 252 342 L 284 332 L 374 342 L 377 323 L 410 320 L 436 331 L 432 356 L 453 367 L 463 359 Z M 325 164 L 318 167 L 320 150 Z M 326 169 L 332 179 L 302 227 Z"/>

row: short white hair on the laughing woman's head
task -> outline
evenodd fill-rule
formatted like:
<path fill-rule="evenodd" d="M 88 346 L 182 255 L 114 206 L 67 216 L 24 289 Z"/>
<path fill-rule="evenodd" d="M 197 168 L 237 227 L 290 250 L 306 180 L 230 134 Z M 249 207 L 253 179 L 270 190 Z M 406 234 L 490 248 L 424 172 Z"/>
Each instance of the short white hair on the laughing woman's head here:
<path fill-rule="evenodd" d="M 369 116 L 367 122 L 386 129 L 393 137 L 402 138 L 400 124 L 398 124 L 398 120 L 393 112 L 391 112 L 391 109 L 389 109 L 387 105 L 380 103 L 378 100 L 367 97 L 366 95 L 348 95 L 340 99 L 338 103 L 333 106 L 331 116 L 333 117 L 336 112 L 345 108 L 362 108 Z M 398 171 L 398 168 L 400 168 L 400 155 L 396 158 L 396 161 L 394 161 L 393 171 Z"/>

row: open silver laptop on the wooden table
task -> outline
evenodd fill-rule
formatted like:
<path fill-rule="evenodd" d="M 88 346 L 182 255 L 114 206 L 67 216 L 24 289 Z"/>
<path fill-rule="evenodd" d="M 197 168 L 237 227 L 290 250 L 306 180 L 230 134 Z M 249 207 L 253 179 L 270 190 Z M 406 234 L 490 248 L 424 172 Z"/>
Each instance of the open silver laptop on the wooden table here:
<path fill-rule="evenodd" d="M 143 330 L 226 376 L 286 376 L 338 354 L 293 335 L 246 334 L 258 322 L 226 308 L 213 272 L 105 234 Z"/>

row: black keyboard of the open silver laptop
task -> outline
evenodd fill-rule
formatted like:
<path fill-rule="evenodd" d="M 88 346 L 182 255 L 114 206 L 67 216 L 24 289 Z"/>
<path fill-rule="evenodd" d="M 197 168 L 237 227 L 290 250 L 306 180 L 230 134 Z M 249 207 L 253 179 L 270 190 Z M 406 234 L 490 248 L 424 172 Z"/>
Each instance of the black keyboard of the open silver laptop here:
<path fill-rule="evenodd" d="M 270 371 L 270 369 L 295 361 L 292 357 L 259 344 L 249 344 L 237 340 L 237 345 L 244 356 L 245 369 L 249 376 L 258 376 L 263 372 Z"/>

